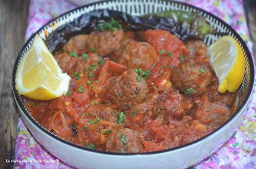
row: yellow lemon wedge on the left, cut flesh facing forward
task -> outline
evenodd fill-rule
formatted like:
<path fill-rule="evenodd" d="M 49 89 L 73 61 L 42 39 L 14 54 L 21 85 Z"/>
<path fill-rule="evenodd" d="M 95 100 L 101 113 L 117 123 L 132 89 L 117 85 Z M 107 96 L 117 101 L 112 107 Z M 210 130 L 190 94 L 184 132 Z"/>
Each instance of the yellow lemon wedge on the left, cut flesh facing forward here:
<path fill-rule="evenodd" d="M 37 100 L 55 99 L 68 91 L 70 79 L 62 73 L 44 40 L 36 35 L 17 68 L 18 93 Z"/>

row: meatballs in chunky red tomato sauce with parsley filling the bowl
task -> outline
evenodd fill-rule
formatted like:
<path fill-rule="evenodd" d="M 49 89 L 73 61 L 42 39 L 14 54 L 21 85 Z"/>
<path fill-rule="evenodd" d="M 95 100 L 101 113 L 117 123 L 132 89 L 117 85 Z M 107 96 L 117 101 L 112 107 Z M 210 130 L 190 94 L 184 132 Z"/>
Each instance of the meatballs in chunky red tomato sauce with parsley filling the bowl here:
<path fill-rule="evenodd" d="M 69 92 L 51 101 L 29 99 L 35 119 L 70 142 L 120 153 L 178 147 L 224 124 L 237 94 L 218 93 L 205 47 L 186 46 L 163 30 L 139 34 L 143 43 L 131 31 L 93 33 L 111 40 L 97 48 L 103 56 L 89 52 L 90 42 L 79 43 L 79 38 L 87 43 L 88 35 L 71 39 L 55 55 L 72 78 Z M 69 52 L 78 51 L 76 43 L 78 57 L 71 57 Z M 108 47 L 112 43 L 119 47 Z M 195 43 L 202 42 L 188 44 Z M 197 52 L 190 55 L 189 50 Z M 110 60 L 113 55 L 115 61 Z"/>

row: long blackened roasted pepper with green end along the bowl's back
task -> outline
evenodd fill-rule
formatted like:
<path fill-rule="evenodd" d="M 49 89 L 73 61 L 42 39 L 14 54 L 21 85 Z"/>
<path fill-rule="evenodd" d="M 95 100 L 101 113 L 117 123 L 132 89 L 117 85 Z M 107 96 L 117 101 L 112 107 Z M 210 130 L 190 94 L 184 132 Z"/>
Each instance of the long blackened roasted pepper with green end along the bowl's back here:
<path fill-rule="evenodd" d="M 60 26 L 46 39 L 46 44 L 51 52 L 56 52 L 74 35 L 89 34 L 95 30 L 114 31 L 121 28 L 133 31 L 163 29 L 172 32 L 181 40 L 198 39 L 205 34 L 216 33 L 204 17 L 195 12 L 165 11 L 137 17 L 124 12 L 99 9 Z M 91 51 L 95 52 L 95 49 Z"/>

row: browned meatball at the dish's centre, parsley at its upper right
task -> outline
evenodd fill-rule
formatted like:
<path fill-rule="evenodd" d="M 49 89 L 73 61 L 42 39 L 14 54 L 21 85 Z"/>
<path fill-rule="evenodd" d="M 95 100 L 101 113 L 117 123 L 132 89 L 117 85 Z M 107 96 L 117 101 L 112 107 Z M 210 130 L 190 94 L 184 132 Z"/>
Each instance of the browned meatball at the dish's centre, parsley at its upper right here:
<path fill-rule="evenodd" d="M 134 69 L 129 69 L 122 75 L 112 78 L 106 87 L 106 95 L 122 109 L 141 103 L 147 97 L 148 87 L 143 78 L 138 81 L 136 77 L 138 74 Z"/>

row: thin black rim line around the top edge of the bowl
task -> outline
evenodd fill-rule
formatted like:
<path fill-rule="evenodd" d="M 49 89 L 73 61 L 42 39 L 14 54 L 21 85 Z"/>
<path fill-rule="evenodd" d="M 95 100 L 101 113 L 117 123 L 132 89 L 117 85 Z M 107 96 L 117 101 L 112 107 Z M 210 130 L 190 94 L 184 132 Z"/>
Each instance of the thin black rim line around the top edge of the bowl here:
<path fill-rule="evenodd" d="M 47 22 L 44 26 L 42 26 L 38 31 L 36 31 L 28 40 L 27 42 L 24 44 L 24 46 L 22 47 L 22 50 L 20 50 L 19 54 L 18 54 L 18 57 L 15 61 L 15 64 L 14 64 L 14 67 L 13 67 L 13 72 L 12 72 L 12 90 L 13 90 L 13 95 L 14 95 L 14 98 L 15 100 L 17 101 L 17 104 L 19 106 L 19 108 L 25 113 L 25 115 L 29 118 L 29 120 L 36 126 L 38 127 L 41 131 L 45 132 L 46 134 L 48 134 L 49 136 L 57 139 L 58 141 L 61 141 L 62 143 L 66 143 L 68 144 L 69 146 L 72 146 L 72 147 L 75 147 L 75 148 L 78 148 L 78 149 L 81 149 L 81 150 L 86 150 L 86 151 L 90 151 L 90 152 L 94 152 L 94 153 L 99 153 L 99 154 L 106 154 L 106 155 L 123 155 L 123 156 L 131 156 L 131 155 L 153 155 L 153 154 L 161 154 L 161 153 L 166 153 L 166 152 L 169 152 L 169 151 L 173 151 L 173 150 L 178 150 L 178 149 L 182 149 L 182 148 L 185 148 L 185 147 L 188 147 L 188 146 L 191 146 L 192 144 L 194 143 L 198 143 L 200 141 L 203 141 L 204 139 L 206 139 L 207 137 L 209 137 L 210 135 L 216 133 L 217 131 L 219 131 L 220 129 L 222 129 L 223 127 L 227 126 L 231 120 L 238 116 L 239 112 L 244 109 L 244 107 L 247 105 L 248 101 L 249 101 L 249 98 L 250 98 L 250 95 L 252 93 L 252 88 L 253 88 L 253 83 L 254 83 L 254 65 L 253 65 L 253 60 L 252 60 L 252 56 L 251 56 L 251 53 L 250 51 L 248 50 L 248 47 L 246 45 L 246 43 L 244 42 L 244 40 L 241 38 L 241 36 L 231 27 L 229 26 L 225 21 L 223 21 L 221 18 L 215 16 L 214 14 L 211 14 L 203 9 L 200 9 L 198 7 L 195 7 L 193 5 L 190 5 L 190 4 L 186 4 L 186 3 L 182 3 L 182 2 L 177 2 L 177 1 L 167 1 L 167 0 L 162 0 L 162 1 L 165 1 L 165 2 L 174 2 L 174 3 L 177 3 L 177 4 L 181 4 L 181 5 L 184 5 L 184 6 L 188 6 L 188 7 L 191 7 L 191 8 L 195 8 L 197 9 L 198 11 L 200 12 L 203 12 L 203 13 L 206 13 L 207 15 L 210 15 L 212 18 L 215 18 L 217 20 L 219 20 L 222 25 L 224 25 L 225 27 L 227 27 L 237 38 L 238 40 L 241 42 L 242 46 L 244 47 L 244 50 L 245 50 L 245 53 L 248 55 L 248 60 L 249 60 L 249 64 L 250 64 L 250 72 L 251 72 L 251 83 L 250 83 L 250 89 L 249 89 L 249 92 L 248 94 L 246 95 L 246 98 L 245 98 L 245 101 L 243 102 L 243 104 L 240 106 L 239 109 L 236 110 L 236 112 L 227 120 L 227 122 L 223 125 L 221 125 L 217 130 L 205 135 L 204 137 L 200 138 L 200 139 L 197 139 L 193 142 L 190 142 L 190 143 L 187 143 L 187 144 L 184 144 L 183 146 L 179 146 L 179 147 L 176 147 L 176 148 L 172 148 L 172 149 L 166 149 L 166 150 L 161 150 L 161 151 L 156 151 L 156 152 L 146 152 L 146 153 L 114 153 L 114 152 L 104 152 L 104 151 L 98 151 L 98 150 L 92 150 L 92 149 L 89 149 L 89 148 L 86 148 L 86 147 L 81 147 L 81 146 L 78 146 L 77 144 L 74 144 L 74 143 L 71 143 L 65 139 L 62 139 L 56 135 L 54 135 L 53 133 L 51 133 L 50 131 L 48 131 L 47 129 L 45 129 L 44 127 L 42 127 L 41 125 L 38 124 L 38 122 L 36 122 L 35 119 L 33 119 L 30 115 L 30 113 L 25 109 L 25 107 L 23 106 L 22 104 L 22 101 L 19 99 L 19 95 L 18 95 L 18 92 L 17 90 L 15 89 L 15 75 L 16 75 L 16 71 L 17 71 L 17 66 L 18 66 L 18 63 L 19 63 L 19 60 L 20 58 L 22 57 L 22 54 L 23 54 L 23 51 L 26 49 L 26 46 L 29 44 L 29 42 L 34 38 L 34 36 L 39 33 L 42 29 L 44 29 L 46 26 L 48 26 L 51 22 L 57 20 L 58 18 L 62 17 L 63 15 L 66 15 L 72 11 L 75 11 L 75 10 L 78 10 L 78 9 L 82 9 L 84 7 L 89 7 L 89 6 L 92 6 L 92 5 L 95 5 L 95 4 L 101 4 L 101 3 L 104 3 L 104 2 L 109 2 L 109 3 L 112 3 L 112 2 L 117 2 L 117 1 L 120 1 L 120 0 L 112 0 L 112 1 L 99 1 L 99 2 L 95 2 L 95 3 L 91 3 L 91 4 L 88 4 L 88 5 L 84 5 L 84 6 L 80 6 L 80 7 L 77 7 L 75 9 L 72 9 L 68 12 L 65 12 L 61 15 L 59 15 L 58 17 L 50 20 L 49 22 Z"/>

